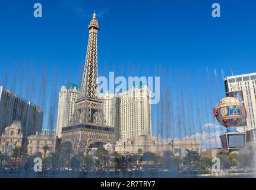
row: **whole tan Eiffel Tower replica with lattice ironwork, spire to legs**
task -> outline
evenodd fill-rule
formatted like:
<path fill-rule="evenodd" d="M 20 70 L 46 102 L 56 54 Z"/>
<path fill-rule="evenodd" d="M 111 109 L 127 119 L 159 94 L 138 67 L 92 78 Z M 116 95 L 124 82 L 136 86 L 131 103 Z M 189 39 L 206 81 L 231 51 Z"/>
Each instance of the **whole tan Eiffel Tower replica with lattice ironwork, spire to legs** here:
<path fill-rule="evenodd" d="M 62 143 L 69 143 L 76 153 L 87 153 L 94 143 L 115 143 L 115 132 L 107 126 L 103 102 L 99 99 L 97 69 L 97 34 L 99 24 L 94 11 L 88 26 L 89 42 L 80 96 L 75 103 L 74 115 L 68 126 L 62 128 Z"/>

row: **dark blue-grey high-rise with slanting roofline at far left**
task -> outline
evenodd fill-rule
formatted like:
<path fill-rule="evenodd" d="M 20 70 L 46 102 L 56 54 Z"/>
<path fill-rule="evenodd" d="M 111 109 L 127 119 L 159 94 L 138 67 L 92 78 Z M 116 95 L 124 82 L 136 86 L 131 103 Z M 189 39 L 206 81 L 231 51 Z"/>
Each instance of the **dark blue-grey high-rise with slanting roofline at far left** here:
<path fill-rule="evenodd" d="M 14 121 L 21 121 L 24 135 L 42 130 L 43 110 L 10 90 L 0 87 L 0 134 Z"/>

